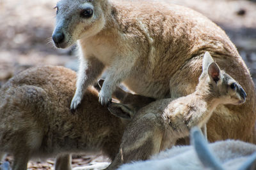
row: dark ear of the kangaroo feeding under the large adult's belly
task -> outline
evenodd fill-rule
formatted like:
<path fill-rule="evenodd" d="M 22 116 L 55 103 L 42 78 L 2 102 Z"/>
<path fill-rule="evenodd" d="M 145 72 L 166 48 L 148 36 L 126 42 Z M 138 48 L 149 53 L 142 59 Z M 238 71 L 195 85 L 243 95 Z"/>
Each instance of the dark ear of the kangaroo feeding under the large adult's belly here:
<path fill-rule="evenodd" d="M 120 118 L 132 118 L 134 115 L 134 109 L 129 104 L 109 103 L 108 110 L 112 115 Z"/>

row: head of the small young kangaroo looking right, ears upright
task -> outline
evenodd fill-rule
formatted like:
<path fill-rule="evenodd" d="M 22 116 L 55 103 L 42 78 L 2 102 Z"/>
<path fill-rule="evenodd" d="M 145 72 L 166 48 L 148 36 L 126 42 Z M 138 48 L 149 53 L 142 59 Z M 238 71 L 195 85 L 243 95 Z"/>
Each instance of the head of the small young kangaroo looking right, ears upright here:
<path fill-rule="evenodd" d="M 234 78 L 221 70 L 214 62 L 209 52 L 205 52 L 203 58 L 203 71 L 199 78 L 196 90 L 207 87 L 211 96 L 216 98 L 221 104 L 241 104 L 245 102 L 246 92 Z"/>

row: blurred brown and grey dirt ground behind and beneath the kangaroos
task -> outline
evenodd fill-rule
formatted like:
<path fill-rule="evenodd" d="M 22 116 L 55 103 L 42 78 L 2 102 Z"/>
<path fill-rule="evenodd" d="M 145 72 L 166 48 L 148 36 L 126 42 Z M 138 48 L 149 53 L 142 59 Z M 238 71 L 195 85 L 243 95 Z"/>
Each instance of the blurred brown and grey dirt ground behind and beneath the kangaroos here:
<path fill-rule="evenodd" d="M 220 25 L 235 43 L 256 82 L 256 3 L 240 0 L 159 0 L 193 8 Z M 20 70 L 44 64 L 77 69 L 74 46 L 51 43 L 56 0 L 0 0 L 0 85 Z M 7 160 L 12 162 L 12 158 Z M 73 166 L 102 162 L 100 155 L 75 156 Z M 54 159 L 31 161 L 29 169 L 53 169 Z"/>

